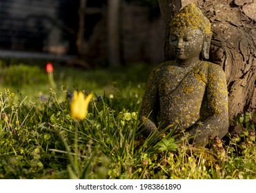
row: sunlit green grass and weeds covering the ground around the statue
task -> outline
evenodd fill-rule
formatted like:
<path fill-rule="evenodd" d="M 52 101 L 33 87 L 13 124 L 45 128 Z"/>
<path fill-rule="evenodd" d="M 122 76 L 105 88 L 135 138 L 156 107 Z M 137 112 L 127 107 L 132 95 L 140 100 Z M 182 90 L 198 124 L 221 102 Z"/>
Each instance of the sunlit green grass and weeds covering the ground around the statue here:
<path fill-rule="evenodd" d="M 1 179 L 256 179 L 253 114 L 237 116 L 241 134 L 193 148 L 186 134 L 156 142 L 138 132 L 139 104 L 152 67 L 81 70 L 1 62 Z M 73 90 L 93 92 L 84 121 L 70 117 Z"/>

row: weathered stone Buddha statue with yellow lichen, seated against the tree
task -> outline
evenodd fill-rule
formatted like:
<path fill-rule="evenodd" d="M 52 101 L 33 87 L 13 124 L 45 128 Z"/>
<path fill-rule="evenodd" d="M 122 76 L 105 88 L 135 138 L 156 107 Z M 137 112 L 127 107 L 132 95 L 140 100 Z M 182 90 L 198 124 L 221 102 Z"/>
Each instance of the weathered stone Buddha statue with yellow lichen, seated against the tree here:
<path fill-rule="evenodd" d="M 144 136 L 173 125 L 207 145 L 209 136 L 228 132 L 228 92 L 221 67 L 208 59 L 210 21 L 191 3 L 170 21 L 173 61 L 152 70 L 139 119 Z"/>

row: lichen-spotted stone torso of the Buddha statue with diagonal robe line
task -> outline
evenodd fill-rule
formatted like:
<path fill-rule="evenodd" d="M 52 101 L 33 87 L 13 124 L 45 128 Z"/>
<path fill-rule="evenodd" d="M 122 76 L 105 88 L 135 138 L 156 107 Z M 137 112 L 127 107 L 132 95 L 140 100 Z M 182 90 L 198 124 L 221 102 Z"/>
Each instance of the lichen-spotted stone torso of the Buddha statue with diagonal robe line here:
<path fill-rule="evenodd" d="M 186 129 L 206 115 L 208 63 L 184 68 L 166 63 L 159 68 L 160 121 L 166 127 L 175 122 Z"/>

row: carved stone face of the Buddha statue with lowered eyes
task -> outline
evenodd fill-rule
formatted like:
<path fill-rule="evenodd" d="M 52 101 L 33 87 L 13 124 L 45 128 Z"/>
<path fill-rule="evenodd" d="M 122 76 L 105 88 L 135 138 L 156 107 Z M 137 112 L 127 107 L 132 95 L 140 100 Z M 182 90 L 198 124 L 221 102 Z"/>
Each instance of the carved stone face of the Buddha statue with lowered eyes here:
<path fill-rule="evenodd" d="M 204 34 L 199 29 L 180 28 L 170 31 L 170 49 L 175 59 L 187 61 L 197 57 L 203 48 Z"/>

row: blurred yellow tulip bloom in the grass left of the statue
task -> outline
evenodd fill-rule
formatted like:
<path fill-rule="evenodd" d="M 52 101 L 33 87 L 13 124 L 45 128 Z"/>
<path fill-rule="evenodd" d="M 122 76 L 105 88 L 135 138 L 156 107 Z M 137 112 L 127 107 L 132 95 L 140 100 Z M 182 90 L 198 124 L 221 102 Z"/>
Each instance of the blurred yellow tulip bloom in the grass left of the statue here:
<path fill-rule="evenodd" d="M 89 94 L 86 98 L 83 95 L 83 92 L 77 93 L 74 92 L 73 100 L 71 103 L 71 117 L 79 120 L 83 120 L 86 118 L 88 114 L 88 105 L 90 103 L 90 99 L 92 99 L 93 94 Z"/>

